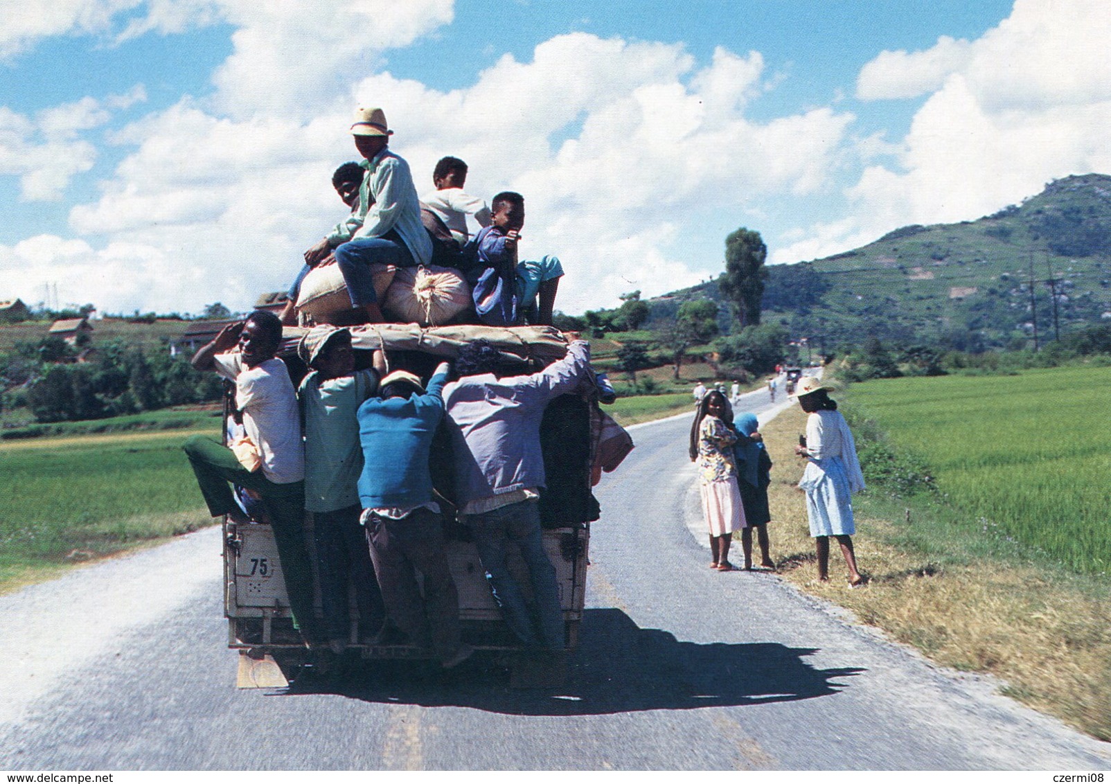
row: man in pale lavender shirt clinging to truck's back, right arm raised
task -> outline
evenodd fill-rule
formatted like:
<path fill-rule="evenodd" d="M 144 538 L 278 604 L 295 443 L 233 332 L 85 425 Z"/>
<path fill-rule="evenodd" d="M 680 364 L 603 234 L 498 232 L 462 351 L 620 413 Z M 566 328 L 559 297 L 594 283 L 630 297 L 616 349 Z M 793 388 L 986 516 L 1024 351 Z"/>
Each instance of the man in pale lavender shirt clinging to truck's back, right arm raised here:
<path fill-rule="evenodd" d="M 513 375 L 484 340 L 456 360 L 459 380 L 444 390 L 456 462 L 456 502 L 474 535 L 482 566 L 513 633 L 529 647 L 564 644 L 556 570 L 543 549 L 538 500 L 546 485 L 540 446 L 544 406 L 589 379 L 590 345 L 575 340 L 567 356 L 531 375 Z M 529 571 L 537 617 L 506 565 L 514 542 Z"/>

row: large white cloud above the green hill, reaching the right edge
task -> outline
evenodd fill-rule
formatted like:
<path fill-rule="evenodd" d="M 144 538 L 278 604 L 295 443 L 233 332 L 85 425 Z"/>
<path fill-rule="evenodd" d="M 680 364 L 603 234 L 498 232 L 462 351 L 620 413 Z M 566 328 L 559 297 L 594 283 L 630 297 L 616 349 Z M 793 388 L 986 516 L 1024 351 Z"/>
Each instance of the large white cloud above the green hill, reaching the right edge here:
<path fill-rule="evenodd" d="M 865 97 L 912 94 L 925 76 L 943 81 L 901 140 L 898 167 L 869 165 L 847 190 L 850 219 L 812 227 L 774 259 L 849 250 L 908 223 L 973 220 L 1054 178 L 1111 173 L 1109 38 L 1111 4 L 1102 0 L 1018 0 L 967 47 L 884 52 L 861 71 Z"/>

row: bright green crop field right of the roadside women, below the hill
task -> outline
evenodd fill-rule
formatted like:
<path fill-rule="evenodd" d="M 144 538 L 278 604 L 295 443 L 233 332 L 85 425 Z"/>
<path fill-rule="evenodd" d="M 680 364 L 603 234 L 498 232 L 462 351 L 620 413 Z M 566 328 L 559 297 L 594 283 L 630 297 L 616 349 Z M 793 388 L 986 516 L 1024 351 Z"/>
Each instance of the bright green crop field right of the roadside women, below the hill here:
<path fill-rule="evenodd" d="M 1111 571 L 1105 368 L 891 379 L 851 404 L 921 456 L 978 524 L 1080 572 Z"/>

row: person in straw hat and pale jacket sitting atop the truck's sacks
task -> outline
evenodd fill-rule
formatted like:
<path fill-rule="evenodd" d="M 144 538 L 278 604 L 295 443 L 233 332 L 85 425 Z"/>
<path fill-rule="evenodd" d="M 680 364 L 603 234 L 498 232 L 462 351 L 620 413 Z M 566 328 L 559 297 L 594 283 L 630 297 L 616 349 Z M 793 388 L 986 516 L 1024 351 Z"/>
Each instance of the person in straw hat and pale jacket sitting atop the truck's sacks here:
<path fill-rule="evenodd" d="M 351 134 L 367 173 L 359 189 L 359 208 L 323 240 L 304 252 L 310 267 L 329 253 L 343 273 L 351 306 L 367 311 L 371 323 L 382 321 L 369 264 L 414 267 L 432 259 L 432 241 L 421 222 L 420 200 L 409 164 L 388 149 L 386 113 L 356 110 Z"/>

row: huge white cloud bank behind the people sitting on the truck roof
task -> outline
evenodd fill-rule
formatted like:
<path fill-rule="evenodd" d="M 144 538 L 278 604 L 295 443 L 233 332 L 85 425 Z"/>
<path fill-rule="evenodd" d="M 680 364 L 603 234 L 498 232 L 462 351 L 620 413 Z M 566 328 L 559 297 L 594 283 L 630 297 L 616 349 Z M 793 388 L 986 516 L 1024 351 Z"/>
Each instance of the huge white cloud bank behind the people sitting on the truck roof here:
<path fill-rule="evenodd" d="M 431 188 L 444 154 L 468 161 L 473 193 L 521 191 L 522 253 L 564 262 L 557 306 L 612 305 L 633 289 L 662 293 L 703 279 L 720 259 L 720 240 L 714 255 L 691 255 L 707 215 L 829 185 L 852 117 L 818 109 L 748 120 L 762 69 L 755 52 L 719 49 L 697 69 L 681 46 L 573 33 L 542 42 L 530 62 L 506 56 L 459 90 L 368 77 L 308 122 L 296 113 L 220 117 L 208 102 L 184 100 L 114 134 L 136 150 L 70 220 L 90 241 L 154 248 L 176 261 L 171 269 L 199 271 L 197 284 L 174 290 L 170 310 L 216 300 L 246 308 L 284 288 L 301 251 L 342 218 L 330 174 L 356 157 L 351 109 L 372 102 L 386 108 L 391 147 L 419 191 Z M 166 284 L 152 274 L 150 285 L 148 294 L 104 287 L 94 301 L 150 310 Z"/>

